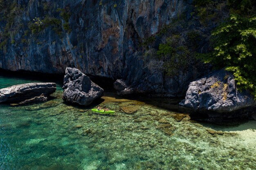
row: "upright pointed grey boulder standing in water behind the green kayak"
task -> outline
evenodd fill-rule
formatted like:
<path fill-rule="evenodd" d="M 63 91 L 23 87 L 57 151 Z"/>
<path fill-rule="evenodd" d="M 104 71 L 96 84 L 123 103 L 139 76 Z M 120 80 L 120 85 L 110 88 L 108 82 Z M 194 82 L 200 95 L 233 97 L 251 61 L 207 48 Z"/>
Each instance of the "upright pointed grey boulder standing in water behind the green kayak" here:
<path fill-rule="evenodd" d="M 62 98 L 66 102 L 88 106 L 103 96 L 103 88 L 78 69 L 67 67 L 65 73 Z"/>

